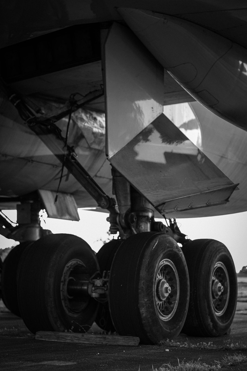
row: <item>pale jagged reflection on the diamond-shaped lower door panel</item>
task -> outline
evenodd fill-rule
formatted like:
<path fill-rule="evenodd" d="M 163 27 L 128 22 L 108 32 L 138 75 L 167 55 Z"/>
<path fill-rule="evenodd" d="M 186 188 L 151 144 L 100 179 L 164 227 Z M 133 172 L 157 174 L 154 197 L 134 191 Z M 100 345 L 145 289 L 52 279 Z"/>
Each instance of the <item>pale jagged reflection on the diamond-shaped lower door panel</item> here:
<path fill-rule="evenodd" d="M 141 141 L 135 147 L 136 160 L 158 162 L 166 164 L 166 153 L 180 153 L 185 155 L 198 155 L 198 149 L 189 140 L 183 142 L 164 143 L 161 135 L 154 129 L 148 137 L 148 142 Z"/>

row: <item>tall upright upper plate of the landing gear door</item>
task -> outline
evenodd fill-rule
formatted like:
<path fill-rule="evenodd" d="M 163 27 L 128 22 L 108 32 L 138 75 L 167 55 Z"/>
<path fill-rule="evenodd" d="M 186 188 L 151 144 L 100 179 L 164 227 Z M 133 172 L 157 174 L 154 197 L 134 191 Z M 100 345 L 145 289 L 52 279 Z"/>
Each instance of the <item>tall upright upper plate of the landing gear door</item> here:
<path fill-rule="evenodd" d="M 134 34 L 114 23 L 105 45 L 109 157 L 163 112 L 163 68 Z"/>

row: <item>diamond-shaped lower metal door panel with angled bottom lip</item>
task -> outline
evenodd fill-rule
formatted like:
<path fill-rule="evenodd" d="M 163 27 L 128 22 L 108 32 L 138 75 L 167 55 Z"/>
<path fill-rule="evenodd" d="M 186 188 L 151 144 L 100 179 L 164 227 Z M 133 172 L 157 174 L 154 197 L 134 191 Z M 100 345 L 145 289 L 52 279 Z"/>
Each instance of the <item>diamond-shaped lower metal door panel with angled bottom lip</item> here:
<path fill-rule="evenodd" d="M 225 192 L 214 194 L 213 202 L 221 202 L 235 188 L 164 114 L 117 152 L 110 162 L 158 210 L 166 210 L 163 208 L 166 201 L 230 186 L 228 195 Z M 210 203 L 210 196 L 207 202 Z M 197 197 L 193 208 L 201 205 L 201 198 Z"/>

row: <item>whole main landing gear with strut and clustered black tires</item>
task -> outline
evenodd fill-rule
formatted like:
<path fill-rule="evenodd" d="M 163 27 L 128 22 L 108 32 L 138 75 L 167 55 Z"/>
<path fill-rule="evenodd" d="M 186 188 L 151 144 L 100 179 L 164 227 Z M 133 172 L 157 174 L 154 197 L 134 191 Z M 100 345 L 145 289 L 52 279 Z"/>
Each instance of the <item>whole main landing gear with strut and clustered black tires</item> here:
<path fill-rule="evenodd" d="M 113 174 L 120 238 L 97 255 L 82 239 L 50 234 L 15 247 L 3 263 L 4 303 L 33 333 L 107 332 L 156 344 L 187 335 L 219 336 L 233 321 L 237 280 L 226 246 L 190 241 L 176 221 L 154 221 L 148 202 Z M 182 244 L 182 248 L 178 246 Z"/>

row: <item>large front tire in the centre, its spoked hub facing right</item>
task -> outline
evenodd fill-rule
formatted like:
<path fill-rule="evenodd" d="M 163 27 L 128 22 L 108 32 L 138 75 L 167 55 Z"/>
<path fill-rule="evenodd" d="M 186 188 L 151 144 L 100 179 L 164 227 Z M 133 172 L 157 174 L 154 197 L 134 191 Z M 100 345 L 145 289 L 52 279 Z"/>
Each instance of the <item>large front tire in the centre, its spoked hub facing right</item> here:
<path fill-rule="evenodd" d="M 164 310 L 173 308 L 167 316 L 161 315 L 157 304 L 157 279 L 165 259 L 174 266 L 165 269 L 167 281 L 177 272 L 171 293 L 162 301 Z M 138 336 L 143 344 L 174 338 L 183 327 L 188 296 L 188 270 L 174 239 L 143 232 L 124 240 L 113 259 L 109 283 L 111 318 L 120 335 Z"/>

